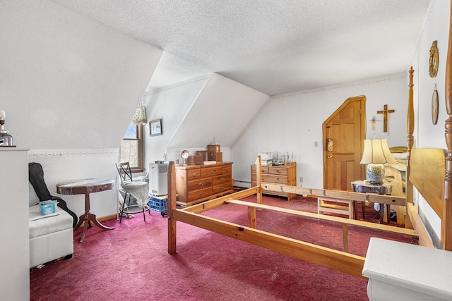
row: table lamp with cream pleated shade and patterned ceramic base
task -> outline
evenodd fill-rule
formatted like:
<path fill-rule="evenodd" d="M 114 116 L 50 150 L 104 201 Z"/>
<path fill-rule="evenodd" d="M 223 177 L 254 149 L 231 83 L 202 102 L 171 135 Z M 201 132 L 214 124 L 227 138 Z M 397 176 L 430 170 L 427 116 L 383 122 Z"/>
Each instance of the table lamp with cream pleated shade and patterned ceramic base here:
<path fill-rule="evenodd" d="M 367 178 L 372 185 L 383 184 L 385 163 L 395 163 L 386 139 L 364 140 L 364 152 L 360 164 L 367 164 Z"/>

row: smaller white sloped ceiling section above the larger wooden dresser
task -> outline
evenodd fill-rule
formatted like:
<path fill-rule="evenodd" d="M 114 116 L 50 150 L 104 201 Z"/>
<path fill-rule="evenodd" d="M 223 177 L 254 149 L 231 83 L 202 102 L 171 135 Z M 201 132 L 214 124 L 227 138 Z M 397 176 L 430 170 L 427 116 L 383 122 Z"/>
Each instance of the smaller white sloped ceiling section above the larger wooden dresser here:
<path fill-rule="evenodd" d="M 268 95 L 213 73 L 169 147 L 199 147 L 213 140 L 230 147 L 267 100 Z"/>

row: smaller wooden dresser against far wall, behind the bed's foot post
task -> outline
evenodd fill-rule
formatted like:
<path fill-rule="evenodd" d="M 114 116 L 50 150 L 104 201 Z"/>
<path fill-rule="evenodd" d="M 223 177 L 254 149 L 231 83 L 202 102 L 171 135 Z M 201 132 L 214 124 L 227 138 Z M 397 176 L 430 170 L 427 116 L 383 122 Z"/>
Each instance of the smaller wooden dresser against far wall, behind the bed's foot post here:
<path fill-rule="evenodd" d="M 262 166 L 262 182 L 297 186 L 297 162 L 286 163 L 280 166 Z M 256 165 L 251 165 L 251 187 L 256 186 Z M 290 200 L 295 193 L 275 192 L 262 190 L 267 195 L 280 195 Z"/>

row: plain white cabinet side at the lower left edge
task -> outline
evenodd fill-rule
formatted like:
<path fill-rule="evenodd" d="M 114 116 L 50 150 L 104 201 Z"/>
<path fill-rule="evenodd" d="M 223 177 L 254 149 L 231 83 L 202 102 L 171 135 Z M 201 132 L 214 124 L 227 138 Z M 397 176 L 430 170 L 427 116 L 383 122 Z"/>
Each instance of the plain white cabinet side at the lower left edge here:
<path fill-rule="evenodd" d="M 0 147 L 0 292 L 30 300 L 28 150 Z"/>

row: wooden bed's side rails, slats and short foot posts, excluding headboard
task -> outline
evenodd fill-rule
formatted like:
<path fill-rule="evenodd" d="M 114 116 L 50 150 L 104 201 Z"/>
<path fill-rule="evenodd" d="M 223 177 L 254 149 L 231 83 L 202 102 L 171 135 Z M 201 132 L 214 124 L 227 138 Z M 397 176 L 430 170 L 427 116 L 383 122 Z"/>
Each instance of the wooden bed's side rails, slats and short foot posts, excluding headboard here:
<path fill-rule="evenodd" d="M 261 183 L 261 164 L 257 164 L 257 183 Z M 365 221 L 357 221 L 354 219 L 345 219 L 336 216 L 326 216 L 321 214 L 311 214 L 303 211 L 296 211 L 292 209 L 283 209 L 280 207 L 272 207 L 262 204 L 262 190 L 284 191 L 296 193 L 297 195 L 318 195 L 323 197 L 333 197 L 340 199 L 352 199 L 357 201 L 379 202 L 396 205 L 404 205 L 405 197 L 393 197 L 388 195 L 373 195 L 364 194 L 360 192 L 344 192 L 337 190 L 322 190 L 309 189 L 288 185 L 277 185 L 261 183 L 254 188 L 248 188 L 240 192 L 234 192 L 224 197 L 211 199 L 207 202 L 195 204 L 184 209 L 176 208 L 176 191 L 175 191 L 175 168 L 174 163 L 169 162 L 168 169 L 169 187 L 168 187 L 168 252 L 169 254 L 176 253 L 176 235 L 177 235 L 177 221 L 189 223 L 193 226 L 204 228 L 208 231 L 213 231 L 230 238 L 243 240 L 254 245 L 266 247 L 269 250 L 287 254 L 292 257 L 303 259 L 307 262 L 326 266 L 343 273 L 365 278 L 362 276 L 362 267 L 364 266 L 364 257 L 355 254 L 347 253 L 348 239 L 347 226 L 361 226 L 364 228 L 374 228 L 379 231 L 389 231 L 398 233 L 400 235 L 409 235 L 413 238 L 418 238 L 417 231 L 407 228 L 396 228 L 377 223 L 369 223 Z M 257 202 L 244 202 L 239 199 L 244 197 L 256 195 Z M 203 216 L 201 213 L 209 209 L 213 209 L 223 204 L 239 204 L 248 207 L 249 226 L 238 225 L 219 219 L 213 219 L 209 216 Z M 309 242 L 286 238 L 281 235 L 268 233 L 256 229 L 256 209 L 267 209 L 273 211 L 284 212 L 286 214 L 295 214 L 297 216 L 305 216 L 314 219 L 323 219 L 327 221 L 335 221 L 342 224 L 343 227 L 343 251 L 333 250 L 319 245 L 313 245 Z"/>

